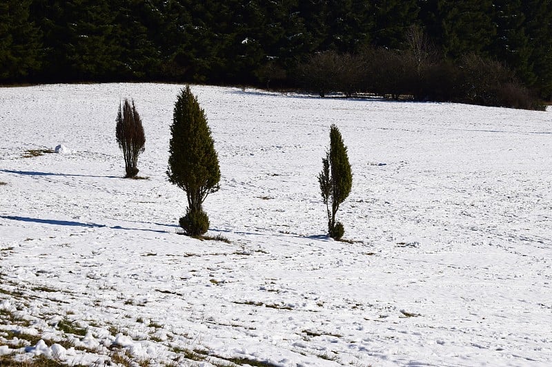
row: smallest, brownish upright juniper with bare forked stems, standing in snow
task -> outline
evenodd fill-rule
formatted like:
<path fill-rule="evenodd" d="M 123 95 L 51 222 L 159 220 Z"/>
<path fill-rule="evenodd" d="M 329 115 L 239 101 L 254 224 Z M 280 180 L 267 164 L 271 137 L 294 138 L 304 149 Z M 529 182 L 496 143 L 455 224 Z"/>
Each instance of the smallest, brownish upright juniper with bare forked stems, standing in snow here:
<path fill-rule="evenodd" d="M 146 136 L 144 127 L 134 101 L 132 105 L 125 98 L 123 106 L 119 104 L 119 113 L 117 114 L 117 126 L 115 127 L 115 136 L 119 148 L 123 151 L 125 160 L 125 178 L 135 178 L 138 174 L 138 156 L 144 151 L 146 145 Z"/>

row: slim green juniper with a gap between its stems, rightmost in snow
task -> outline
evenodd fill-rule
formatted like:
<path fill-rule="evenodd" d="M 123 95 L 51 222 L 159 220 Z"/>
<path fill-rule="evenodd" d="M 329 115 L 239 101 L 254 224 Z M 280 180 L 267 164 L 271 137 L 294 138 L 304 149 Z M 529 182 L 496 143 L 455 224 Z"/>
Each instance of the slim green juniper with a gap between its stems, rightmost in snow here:
<path fill-rule="evenodd" d="M 326 204 L 328 215 L 328 235 L 335 240 L 342 238 L 345 230 L 341 222 L 335 221 L 335 215 L 339 205 L 345 201 L 351 187 L 353 187 L 353 174 L 347 156 L 347 147 L 337 126 L 330 127 L 330 149 L 326 152 L 326 158 L 322 158 L 322 172 L 318 175 L 322 199 Z"/>

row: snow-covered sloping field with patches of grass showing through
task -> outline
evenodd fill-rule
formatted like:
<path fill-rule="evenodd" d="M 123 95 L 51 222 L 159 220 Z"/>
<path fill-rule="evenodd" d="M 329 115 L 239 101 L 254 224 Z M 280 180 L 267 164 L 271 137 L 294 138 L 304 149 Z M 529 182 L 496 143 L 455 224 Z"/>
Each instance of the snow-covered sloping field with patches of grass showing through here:
<path fill-rule="evenodd" d="M 550 366 L 550 109 L 192 86 L 221 164 L 208 234 L 226 243 L 177 234 L 186 196 L 165 172 L 180 89 L 0 88 L 1 358 Z M 125 97 L 146 180 L 122 178 Z M 324 237 L 332 123 L 353 169 L 338 213 L 353 243 Z"/>

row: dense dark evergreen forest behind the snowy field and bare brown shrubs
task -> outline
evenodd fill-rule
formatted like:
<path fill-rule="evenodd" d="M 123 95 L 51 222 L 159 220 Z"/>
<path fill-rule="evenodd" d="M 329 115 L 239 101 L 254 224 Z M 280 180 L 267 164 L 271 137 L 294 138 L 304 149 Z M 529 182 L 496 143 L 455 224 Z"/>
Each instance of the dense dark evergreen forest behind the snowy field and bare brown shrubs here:
<path fill-rule="evenodd" d="M 489 60 L 552 99 L 552 0 L 4 0 L 0 83 L 297 87 L 314 55 L 414 52 L 413 29 L 425 55 Z"/>

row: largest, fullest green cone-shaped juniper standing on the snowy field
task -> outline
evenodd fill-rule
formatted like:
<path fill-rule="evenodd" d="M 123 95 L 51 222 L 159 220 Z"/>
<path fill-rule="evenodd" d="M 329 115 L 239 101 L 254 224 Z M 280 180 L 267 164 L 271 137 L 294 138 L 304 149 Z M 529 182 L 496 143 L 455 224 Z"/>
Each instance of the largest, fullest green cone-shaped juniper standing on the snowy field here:
<path fill-rule="evenodd" d="M 220 168 L 205 112 L 189 85 L 177 97 L 170 133 L 168 180 L 188 198 L 186 216 L 179 224 L 187 235 L 202 235 L 209 228 L 202 205 L 219 189 Z"/>

